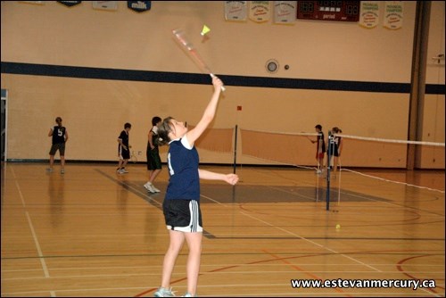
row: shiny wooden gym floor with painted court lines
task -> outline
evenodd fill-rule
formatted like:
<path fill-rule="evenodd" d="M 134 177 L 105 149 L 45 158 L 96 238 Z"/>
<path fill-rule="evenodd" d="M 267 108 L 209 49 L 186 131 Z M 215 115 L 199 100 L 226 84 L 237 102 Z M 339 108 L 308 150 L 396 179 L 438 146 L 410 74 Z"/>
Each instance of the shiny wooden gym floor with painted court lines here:
<path fill-rule="evenodd" d="M 2 166 L 2 297 L 153 296 L 169 240 L 167 168 L 155 183 L 161 194 L 151 195 L 144 164 L 124 175 L 114 164 L 68 163 L 64 175 L 46 167 Z M 329 211 L 326 180 L 312 170 L 242 167 L 235 187 L 202 181 L 198 294 L 444 297 L 444 170 L 361 172 L 381 179 L 343 170 L 331 180 Z M 172 277 L 178 295 L 186 253 Z M 300 280 L 330 284 L 292 286 Z"/>

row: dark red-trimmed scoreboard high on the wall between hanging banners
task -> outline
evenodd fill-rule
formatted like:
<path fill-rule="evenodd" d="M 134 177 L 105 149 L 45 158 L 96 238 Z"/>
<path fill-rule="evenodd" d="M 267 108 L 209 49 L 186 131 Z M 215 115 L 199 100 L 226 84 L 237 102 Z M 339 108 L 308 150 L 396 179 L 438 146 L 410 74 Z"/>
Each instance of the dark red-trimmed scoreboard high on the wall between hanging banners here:
<path fill-rule="evenodd" d="M 359 21 L 360 1 L 298 1 L 297 19 Z"/>

